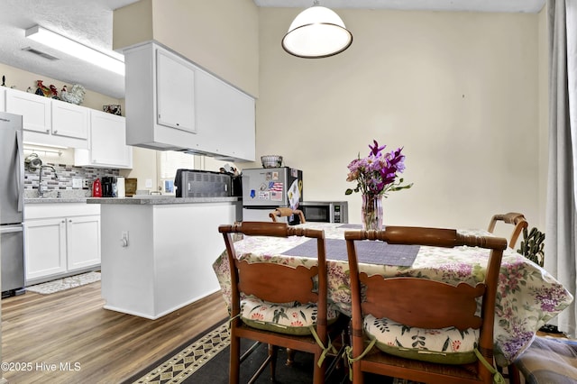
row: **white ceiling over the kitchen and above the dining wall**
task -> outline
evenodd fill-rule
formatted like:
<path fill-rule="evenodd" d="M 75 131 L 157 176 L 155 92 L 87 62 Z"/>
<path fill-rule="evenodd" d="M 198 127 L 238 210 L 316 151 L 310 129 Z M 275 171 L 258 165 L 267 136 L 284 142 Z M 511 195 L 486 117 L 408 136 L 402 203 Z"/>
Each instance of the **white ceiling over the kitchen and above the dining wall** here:
<path fill-rule="evenodd" d="M 81 84 L 107 96 L 124 98 L 124 77 L 31 41 L 24 36 L 24 31 L 39 24 L 97 50 L 110 51 L 114 9 L 136 1 L 0 0 L 0 62 L 59 79 L 62 84 L 55 84 L 59 88 L 64 84 Z M 258 6 L 304 9 L 313 5 L 313 0 L 254 0 L 254 3 Z M 320 0 L 319 3 L 335 9 L 536 13 L 543 8 L 545 0 Z M 26 47 L 41 50 L 59 60 L 44 59 L 23 50 Z M 6 78 L 6 86 L 11 85 L 10 78 Z"/>

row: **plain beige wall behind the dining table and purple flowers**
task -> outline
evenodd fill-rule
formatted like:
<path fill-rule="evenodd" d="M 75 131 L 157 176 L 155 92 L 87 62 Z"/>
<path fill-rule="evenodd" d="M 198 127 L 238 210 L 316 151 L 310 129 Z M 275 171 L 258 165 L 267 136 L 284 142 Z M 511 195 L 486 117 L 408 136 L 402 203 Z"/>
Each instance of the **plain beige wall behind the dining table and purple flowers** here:
<path fill-rule="evenodd" d="M 353 45 L 327 59 L 280 48 L 296 9 L 260 9 L 257 157 L 303 169 L 307 200 L 346 199 L 346 166 L 373 140 L 404 146 L 412 189 L 388 224 L 483 227 L 540 220 L 539 16 L 338 10 Z M 255 164 L 251 164 L 255 165 Z M 258 164 L 257 164 L 258 165 Z"/>

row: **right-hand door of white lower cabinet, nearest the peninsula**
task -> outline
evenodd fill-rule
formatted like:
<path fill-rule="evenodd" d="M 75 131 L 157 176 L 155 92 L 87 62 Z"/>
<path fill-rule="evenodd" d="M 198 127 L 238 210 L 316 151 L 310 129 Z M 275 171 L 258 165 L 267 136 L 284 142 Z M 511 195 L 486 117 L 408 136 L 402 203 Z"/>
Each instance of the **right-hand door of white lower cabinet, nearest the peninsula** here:
<path fill-rule="evenodd" d="M 100 216 L 69 217 L 66 223 L 68 270 L 100 264 Z"/>

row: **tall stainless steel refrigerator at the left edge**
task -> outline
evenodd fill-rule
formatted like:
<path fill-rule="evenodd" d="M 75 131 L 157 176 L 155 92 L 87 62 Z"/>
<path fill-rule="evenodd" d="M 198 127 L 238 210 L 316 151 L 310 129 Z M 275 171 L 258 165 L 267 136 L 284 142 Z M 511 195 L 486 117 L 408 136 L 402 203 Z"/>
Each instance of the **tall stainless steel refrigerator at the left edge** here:
<path fill-rule="evenodd" d="M 24 293 L 22 116 L 0 112 L 0 269 L 2 297 Z"/>

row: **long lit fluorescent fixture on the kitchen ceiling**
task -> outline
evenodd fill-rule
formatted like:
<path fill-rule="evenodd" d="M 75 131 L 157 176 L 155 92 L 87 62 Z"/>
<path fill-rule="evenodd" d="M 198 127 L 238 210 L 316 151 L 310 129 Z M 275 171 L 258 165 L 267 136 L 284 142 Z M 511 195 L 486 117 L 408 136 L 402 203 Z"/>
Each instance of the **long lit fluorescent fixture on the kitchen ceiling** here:
<path fill-rule="evenodd" d="M 77 41 L 70 40 L 61 34 L 51 32 L 46 28 L 42 28 L 40 25 L 34 25 L 32 28 L 28 28 L 26 30 L 26 37 L 124 76 L 124 57 L 116 52 L 113 53 L 116 57 L 113 57 L 112 55 L 94 50 Z"/>

